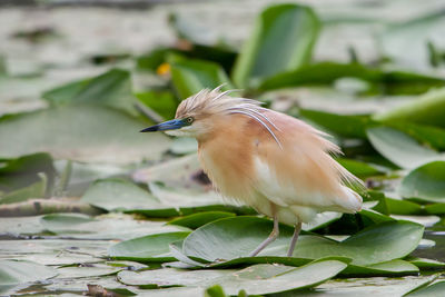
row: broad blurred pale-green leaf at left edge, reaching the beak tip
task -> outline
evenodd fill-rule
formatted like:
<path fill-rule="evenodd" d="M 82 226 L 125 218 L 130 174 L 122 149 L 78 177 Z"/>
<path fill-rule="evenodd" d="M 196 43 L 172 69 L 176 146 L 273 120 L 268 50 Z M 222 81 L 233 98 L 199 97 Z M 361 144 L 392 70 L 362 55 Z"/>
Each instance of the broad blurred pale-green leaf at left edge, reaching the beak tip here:
<path fill-rule="evenodd" d="M 138 133 L 145 126 L 119 110 L 86 105 L 10 117 L 0 125 L 0 158 L 47 151 L 56 158 L 110 164 L 158 159 L 170 141 L 161 133 Z"/>

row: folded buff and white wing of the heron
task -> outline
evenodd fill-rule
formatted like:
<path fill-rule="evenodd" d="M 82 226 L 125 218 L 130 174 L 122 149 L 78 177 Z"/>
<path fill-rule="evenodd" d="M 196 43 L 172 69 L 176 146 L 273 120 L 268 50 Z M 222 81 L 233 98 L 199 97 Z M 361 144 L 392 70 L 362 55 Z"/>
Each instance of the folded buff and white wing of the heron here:
<path fill-rule="evenodd" d="M 278 206 L 308 206 L 319 210 L 356 211 L 357 194 L 344 186 L 355 178 L 330 151 L 338 148 L 310 126 L 286 115 L 269 111 L 281 147 L 264 136 L 255 156 L 255 189 Z"/>

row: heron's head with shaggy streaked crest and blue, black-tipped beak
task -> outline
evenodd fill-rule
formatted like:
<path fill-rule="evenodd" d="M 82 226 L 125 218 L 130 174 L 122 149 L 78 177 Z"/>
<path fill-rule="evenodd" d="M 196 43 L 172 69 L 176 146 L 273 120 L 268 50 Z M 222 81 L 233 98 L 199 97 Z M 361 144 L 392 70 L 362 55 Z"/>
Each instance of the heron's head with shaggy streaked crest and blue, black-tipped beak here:
<path fill-rule="evenodd" d="M 148 127 L 141 132 L 165 131 L 172 136 L 199 139 L 215 131 L 218 125 L 230 122 L 230 116 L 234 113 L 260 118 L 263 108 L 258 101 L 230 97 L 230 91 L 219 89 L 220 87 L 214 90 L 204 89 L 187 98 L 178 106 L 175 119 Z"/>

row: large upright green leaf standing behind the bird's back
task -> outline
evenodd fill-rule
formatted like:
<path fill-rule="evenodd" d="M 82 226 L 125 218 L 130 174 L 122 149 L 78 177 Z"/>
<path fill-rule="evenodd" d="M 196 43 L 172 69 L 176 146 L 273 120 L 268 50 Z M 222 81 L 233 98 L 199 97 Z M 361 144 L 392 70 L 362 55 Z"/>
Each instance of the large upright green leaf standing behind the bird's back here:
<path fill-rule="evenodd" d="M 234 81 L 246 88 L 308 63 L 319 29 L 309 7 L 276 4 L 266 9 L 236 61 Z"/>

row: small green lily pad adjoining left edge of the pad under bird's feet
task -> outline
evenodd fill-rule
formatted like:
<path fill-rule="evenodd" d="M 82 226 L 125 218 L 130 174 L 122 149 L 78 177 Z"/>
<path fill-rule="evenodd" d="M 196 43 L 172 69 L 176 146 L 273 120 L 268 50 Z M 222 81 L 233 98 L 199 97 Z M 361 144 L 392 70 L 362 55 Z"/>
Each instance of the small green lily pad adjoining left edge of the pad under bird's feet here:
<path fill-rule="evenodd" d="M 189 232 L 165 232 L 134 238 L 111 246 L 108 249 L 110 257 L 120 260 L 141 263 L 174 261 L 169 245 L 182 240 Z"/>

